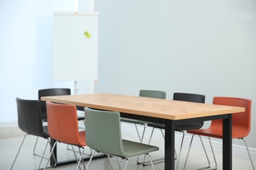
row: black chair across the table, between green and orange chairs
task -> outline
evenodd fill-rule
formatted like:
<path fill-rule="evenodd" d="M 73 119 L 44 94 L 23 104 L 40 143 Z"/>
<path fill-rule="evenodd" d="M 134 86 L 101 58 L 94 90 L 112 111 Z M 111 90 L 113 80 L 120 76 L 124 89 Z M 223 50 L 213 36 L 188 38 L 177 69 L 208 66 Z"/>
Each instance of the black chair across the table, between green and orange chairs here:
<path fill-rule="evenodd" d="M 189 102 L 196 102 L 196 103 L 205 103 L 205 95 L 194 94 L 194 93 L 173 93 L 173 100 L 189 101 Z M 163 135 L 162 129 L 165 129 L 164 124 L 151 123 L 151 124 L 148 124 L 148 126 L 153 127 L 152 133 L 151 133 L 151 136 L 150 136 L 150 141 L 152 139 L 152 135 L 153 135 L 153 132 L 154 132 L 155 128 L 161 129 L 161 133 Z M 190 130 L 190 129 L 200 129 L 202 126 L 203 126 L 203 122 L 193 122 L 193 123 L 189 123 L 189 124 L 181 124 L 181 125 L 175 126 L 175 131 L 180 131 L 180 132 L 183 133 L 182 141 L 181 141 L 180 154 L 179 154 L 179 158 L 177 160 L 177 167 L 179 165 L 179 159 L 181 157 L 182 144 L 183 144 L 184 134 L 185 134 L 184 131 Z M 149 141 L 148 144 L 150 144 L 150 141 Z M 163 161 L 163 159 L 156 160 L 156 161 L 161 162 L 161 161 Z M 148 163 L 144 162 L 143 164 L 147 165 Z"/>

